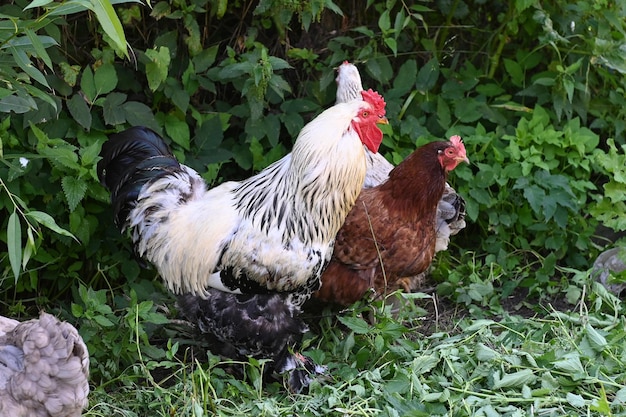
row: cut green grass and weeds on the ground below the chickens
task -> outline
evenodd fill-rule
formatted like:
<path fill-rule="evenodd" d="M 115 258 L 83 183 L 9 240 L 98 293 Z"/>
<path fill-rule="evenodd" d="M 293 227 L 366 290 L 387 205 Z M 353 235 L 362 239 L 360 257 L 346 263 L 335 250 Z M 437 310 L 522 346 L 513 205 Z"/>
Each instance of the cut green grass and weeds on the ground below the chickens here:
<path fill-rule="evenodd" d="M 172 339 L 164 360 L 140 359 L 93 387 L 85 415 L 626 415 L 625 308 L 585 276 L 578 303 L 558 310 L 521 298 L 513 313 L 466 308 L 418 293 L 399 312 L 374 303 L 327 315 L 305 342 L 328 366 L 308 394 L 263 381 L 263 363 L 198 359 L 202 349 Z"/>

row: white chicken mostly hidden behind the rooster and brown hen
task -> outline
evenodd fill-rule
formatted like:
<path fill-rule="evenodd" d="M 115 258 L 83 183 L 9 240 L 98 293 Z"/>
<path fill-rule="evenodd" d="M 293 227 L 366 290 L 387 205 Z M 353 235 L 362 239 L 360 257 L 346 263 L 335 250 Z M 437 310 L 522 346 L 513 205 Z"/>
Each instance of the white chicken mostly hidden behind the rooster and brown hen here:
<path fill-rule="evenodd" d="M 344 61 L 337 68 L 337 103 L 354 100 L 363 91 L 361 75 L 354 64 Z M 367 173 L 363 188 L 375 187 L 386 181 L 393 165 L 380 153 L 365 149 Z M 435 251 L 448 249 L 450 236 L 454 236 L 465 228 L 465 200 L 458 195 L 447 182 L 441 200 L 437 206 L 437 241 Z M 399 281 L 399 286 L 407 292 L 416 288 L 415 282 L 423 281 L 423 273 L 415 277 L 405 277 Z"/>

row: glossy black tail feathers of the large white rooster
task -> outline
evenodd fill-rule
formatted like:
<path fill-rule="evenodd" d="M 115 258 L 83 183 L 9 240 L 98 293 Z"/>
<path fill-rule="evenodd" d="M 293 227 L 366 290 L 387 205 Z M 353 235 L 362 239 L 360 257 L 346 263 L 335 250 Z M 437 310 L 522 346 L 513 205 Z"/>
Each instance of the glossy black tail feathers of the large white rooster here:
<path fill-rule="evenodd" d="M 146 127 L 131 127 L 111 135 L 102 145 L 100 156 L 98 177 L 111 192 L 115 222 L 120 229 L 146 183 L 180 170 L 163 138 Z"/>

